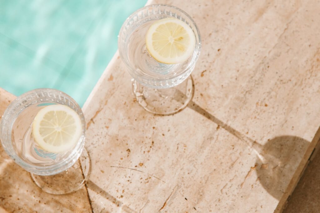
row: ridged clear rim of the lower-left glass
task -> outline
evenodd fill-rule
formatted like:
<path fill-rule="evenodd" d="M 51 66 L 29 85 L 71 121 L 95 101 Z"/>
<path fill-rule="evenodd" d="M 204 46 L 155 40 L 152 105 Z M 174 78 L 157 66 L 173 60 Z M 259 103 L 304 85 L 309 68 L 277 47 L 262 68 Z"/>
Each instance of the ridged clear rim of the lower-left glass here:
<path fill-rule="evenodd" d="M 12 132 L 13 124 L 14 124 L 15 120 L 17 119 L 17 116 L 9 118 L 11 120 L 8 123 L 8 124 L 10 124 L 10 126 L 5 126 L 5 123 L 7 121 L 4 120 L 4 118 L 9 116 L 11 112 L 16 112 L 16 110 L 17 110 L 16 105 L 21 104 L 21 101 L 23 100 L 23 98 L 26 98 L 32 94 L 35 94 L 36 92 L 44 92 L 44 91 L 45 92 L 60 93 L 63 96 L 67 97 L 69 99 L 69 102 L 74 104 L 76 109 L 80 112 L 80 113 L 78 113 L 78 115 L 81 118 L 83 128 L 82 128 L 82 134 L 81 134 L 81 137 L 79 138 L 79 141 L 77 142 L 76 146 L 72 149 L 71 153 L 65 159 L 61 160 L 57 164 L 38 166 L 38 165 L 32 165 L 32 164 L 26 162 L 23 158 L 21 158 L 18 155 L 18 153 L 15 152 L 15 150 L 13 148 L 11 132 Z M 36 102 L 36 99 L 31 99 L 30 101 L 23 103 L 21 105 L 28 105 L 29 104 L 28 106 L 30 106 L 30 105 L 33 105 L 36 103 L 40 103 L 40 102 Z M 21 112 L 19 112 L 18 115 L 20 113 Z M 38 88 L 38 89 L 30 90 L 28 92 L 23 93 L 22 95 L 17 96 L 16 99 L 14 99 L 9 104 L 9 106 L 6 108 L 6 110 L 4 111 L 4 114 L 2 116 L 1 122 L 0 122 L 0 140 L 1 140 L 1 144 L 2 144 L 2 147 L 4 148 L 5 152 L 15 161 L 16 164 L 20 165 L 23 169 L 25 169 L 33 174 L 37 174 L 37 175 L 53 175 L 53 174 L 58 174 L 61 171 L 68 169 L 80 157 L 80 154 L 84 148 L 85 130 L 86 130 L 86 128 L 85 128 L 84 114 L 83 114 L 79 104 L 71 96 L 69 96 L 68 94 L 66 94 L 60 90 L 56 90 L 56 89 Z M 10 133 L 8 133 L 6 135 L 6 133 L 8 131 Z"/>

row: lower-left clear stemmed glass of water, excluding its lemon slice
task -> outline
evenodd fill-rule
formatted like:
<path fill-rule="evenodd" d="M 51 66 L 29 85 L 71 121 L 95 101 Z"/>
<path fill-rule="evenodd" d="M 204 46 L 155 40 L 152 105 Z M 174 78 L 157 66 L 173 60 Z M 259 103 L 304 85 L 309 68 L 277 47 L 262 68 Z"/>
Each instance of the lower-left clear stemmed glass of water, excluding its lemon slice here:
<path fill-rule="evenodd" d="M 47 105 L 67 105 L 79 115 L 82 132 L 74 148 L 50 153 L 37 145 L 32 122 Z M 4 111 L 0 140 L 5 152 L 31 173 L 37 186 L 50 194 L 66 194 L 79 189 L 89 177 L 90 158 L 84 149 L 85 120 L 81 108 L 69 95 L 54 89 L 35 89 L 17 97 Z"/>

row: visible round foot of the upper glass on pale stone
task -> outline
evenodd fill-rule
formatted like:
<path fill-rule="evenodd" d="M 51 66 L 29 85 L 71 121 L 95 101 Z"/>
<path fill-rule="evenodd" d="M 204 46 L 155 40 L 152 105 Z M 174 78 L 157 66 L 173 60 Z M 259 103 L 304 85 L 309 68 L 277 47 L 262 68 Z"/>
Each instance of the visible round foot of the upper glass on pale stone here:
<path fill-rule="evenodd" d="M 167 89 L 145 87 L 132 79 L 132 92 L 137 102 L 148 112 L 172 115 L 183 110 L 193 97 L 191 75 L 182 83 Z"/>

